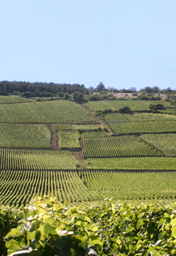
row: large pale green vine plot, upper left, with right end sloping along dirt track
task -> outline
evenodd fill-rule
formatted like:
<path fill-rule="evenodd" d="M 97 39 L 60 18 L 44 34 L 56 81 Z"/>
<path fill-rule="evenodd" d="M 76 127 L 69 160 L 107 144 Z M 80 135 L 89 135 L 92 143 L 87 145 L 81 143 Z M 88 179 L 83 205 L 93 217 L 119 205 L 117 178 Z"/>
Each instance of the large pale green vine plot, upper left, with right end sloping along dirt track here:
<path fill-rule="evenodd" d="M 0 104 L 0 123 L 85 123 L 94 121 L 83 108 L 69 101 Z"/>

